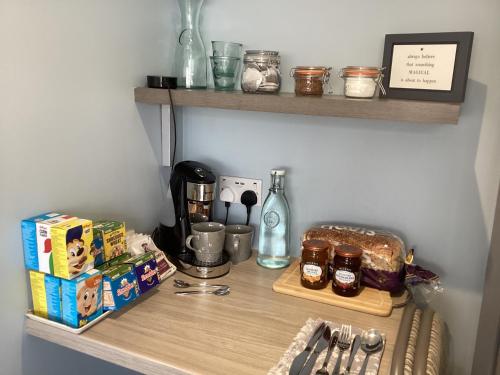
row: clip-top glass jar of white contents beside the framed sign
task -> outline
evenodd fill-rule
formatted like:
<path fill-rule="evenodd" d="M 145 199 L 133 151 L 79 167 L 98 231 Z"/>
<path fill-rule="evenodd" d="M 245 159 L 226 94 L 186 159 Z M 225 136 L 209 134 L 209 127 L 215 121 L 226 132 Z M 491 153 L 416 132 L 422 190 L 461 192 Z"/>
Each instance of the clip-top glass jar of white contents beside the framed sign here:
<path fill-rule="evenodd" d="M 342 69 L 340 78 L 344 79 L 344 95 L 348 98 L 373 98 L 377 86 L 385 95 L 382 86 L 382 71 L 384 68 L 366 66 L 346 66 Z"/>

